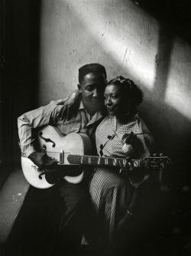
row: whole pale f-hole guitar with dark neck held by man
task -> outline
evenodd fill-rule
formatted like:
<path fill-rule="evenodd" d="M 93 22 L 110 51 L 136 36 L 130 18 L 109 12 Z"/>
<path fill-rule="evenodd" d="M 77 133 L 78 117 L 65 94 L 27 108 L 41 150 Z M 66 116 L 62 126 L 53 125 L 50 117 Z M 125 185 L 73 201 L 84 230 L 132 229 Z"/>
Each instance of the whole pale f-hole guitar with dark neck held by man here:
<path fill-rule="evenodd" d="M 82 181 L 84 172 L 77 176 L 64 176 L 64 166 L 116 166 L 121 167 L 129 164 L 129 159 L 89 156 L 91 152 L 91 141 L 89 136 L 83 133 L 70 133 L 63 136 L 56 127 L 46 126 L 37 133 L 40 149 L 57 160 L 57 165 L 63 166 L 63 179 L 76 184 Z M 170 159 L 167 156 L 151 156 L 144 159 L 131 159 L 131 165 L 135 167 L 144 166 L 150 170 L 159 170 L 167 166 Z M 28 159 L 21 156 L 21 167 L 25 179 L 38 189 L 47 189 L 53 186 L 46 179 L 46 172 Z M 72 170 L 72 168 L 71 168 Z M 138 168 L 137 168 L 138 170 Z"/>

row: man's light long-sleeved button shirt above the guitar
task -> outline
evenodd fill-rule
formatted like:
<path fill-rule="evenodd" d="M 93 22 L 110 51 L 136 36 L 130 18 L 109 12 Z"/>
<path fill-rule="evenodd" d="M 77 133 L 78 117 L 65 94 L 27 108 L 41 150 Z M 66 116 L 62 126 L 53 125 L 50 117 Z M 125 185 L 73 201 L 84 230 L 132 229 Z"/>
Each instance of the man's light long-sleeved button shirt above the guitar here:
<path fill-rule="evenodd" d="M 33 133 L 35 128 L 52 125 L 57 126 L 63 135 L 86 133 L 91 137 L 101 119 L 101 112 L 96 112 L 90 117 L 83 106 L 83 100 L 80 100 L 74 109 L 66 106 L 63 101 L 63 105 L 53 102 L 47 106 L 24 113 L 21 117 L 18 117 L 18 136 L 21 152 L 25 156 L 30 156 L 31 153 L 36 151 Z"/>

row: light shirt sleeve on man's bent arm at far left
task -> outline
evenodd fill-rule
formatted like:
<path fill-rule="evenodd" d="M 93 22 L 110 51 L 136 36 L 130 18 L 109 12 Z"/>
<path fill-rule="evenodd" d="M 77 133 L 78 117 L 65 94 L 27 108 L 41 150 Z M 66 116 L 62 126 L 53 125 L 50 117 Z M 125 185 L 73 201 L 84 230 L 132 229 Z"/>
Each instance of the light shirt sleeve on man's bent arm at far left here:
<path fill-rule="evenodd" d="M 39 107 L 18 117 L 18 136 L 21 152 L 30 156 L 35 150 L 33 130 L 40 126 L 53 125 L 63 105 L 50 103 L 47 106 Z"/>

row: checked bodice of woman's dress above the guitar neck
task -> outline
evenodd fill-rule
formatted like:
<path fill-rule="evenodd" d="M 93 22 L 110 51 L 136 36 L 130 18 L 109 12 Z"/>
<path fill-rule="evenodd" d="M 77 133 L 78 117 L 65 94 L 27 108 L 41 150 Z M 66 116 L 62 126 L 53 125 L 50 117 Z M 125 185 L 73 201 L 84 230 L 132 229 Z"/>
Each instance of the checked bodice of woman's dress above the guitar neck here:
<path fill-rule="evenodd" d="M 118 130 L 115 117 L 105 117 L 95 133 L 98 153 L 100 152 L 100 146 L 105 145 L 102 151 L 103 155 L 127 157 L 128 155 L 123 152 L 122 147 L 131 132 L 137 136 L 133 157 L 142 159 L 145 156 L 150 156 L 153 144 L 152 136 L 143 120 L 138 117 L 138 114 L 129 123 L 120 126 Z M 108 139 L 108 136 L 111 136 L 112 139 Z"/>

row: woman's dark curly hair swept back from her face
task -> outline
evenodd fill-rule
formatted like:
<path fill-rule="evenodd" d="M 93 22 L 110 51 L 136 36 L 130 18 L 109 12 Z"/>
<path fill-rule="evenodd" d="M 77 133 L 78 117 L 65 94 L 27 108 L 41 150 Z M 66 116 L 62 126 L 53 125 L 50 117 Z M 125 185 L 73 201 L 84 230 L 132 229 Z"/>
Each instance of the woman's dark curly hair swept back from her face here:
<path fill-rule="evenodd" d="M 138 106 L 142 103 L 143 92 L 136 84 L 134 84 L 133 80 L 118 76 L 110 80 L 107 85 L 110 84 L 120 87 L 122 94 L 125 96 L 125 99 L 131 101 L 134 106 Z"/>

